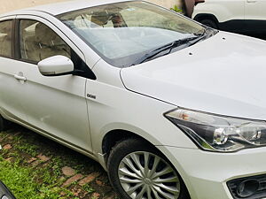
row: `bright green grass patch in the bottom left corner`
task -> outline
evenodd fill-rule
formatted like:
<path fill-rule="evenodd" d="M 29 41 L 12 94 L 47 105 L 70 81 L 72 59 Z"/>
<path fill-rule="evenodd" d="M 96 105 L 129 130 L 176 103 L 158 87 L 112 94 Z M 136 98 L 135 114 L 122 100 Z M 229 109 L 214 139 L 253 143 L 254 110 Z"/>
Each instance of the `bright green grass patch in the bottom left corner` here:
<path fill-rule="evenodd" d="M 0 179 L 18 199 L 56 199 L 62 191 L 66 196 L 73 196 L 66 188 L 57 187 L 61 183 L 58 176 L 44 168 L 35 170 L 34 167 L 11 164 L 0 157 L 0 171 Z"/>

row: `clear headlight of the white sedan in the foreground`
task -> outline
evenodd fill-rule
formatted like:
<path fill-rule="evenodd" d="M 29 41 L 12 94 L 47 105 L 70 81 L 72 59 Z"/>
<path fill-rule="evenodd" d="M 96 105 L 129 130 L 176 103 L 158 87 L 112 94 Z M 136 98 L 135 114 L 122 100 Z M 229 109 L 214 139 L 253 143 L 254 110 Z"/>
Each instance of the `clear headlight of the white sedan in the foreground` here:
<path fill-rule="evenodd" d="M 232 152 L 266 146 L 266 123 L 176 109 L 165 117 L 188 134 L 201 149 Z"/>

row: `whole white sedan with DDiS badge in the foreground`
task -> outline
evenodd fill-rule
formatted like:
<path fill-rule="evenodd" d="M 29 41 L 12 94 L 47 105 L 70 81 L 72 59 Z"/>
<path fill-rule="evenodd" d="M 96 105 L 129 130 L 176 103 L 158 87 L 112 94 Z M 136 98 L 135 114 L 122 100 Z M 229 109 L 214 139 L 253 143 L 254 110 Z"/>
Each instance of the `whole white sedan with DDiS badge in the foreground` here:
<path fill-rule="evenodd" d="M 266 42 L 143 1 L 0 18 L 7 120 L 97 160 L 122 199 L 266 197 Z"/>

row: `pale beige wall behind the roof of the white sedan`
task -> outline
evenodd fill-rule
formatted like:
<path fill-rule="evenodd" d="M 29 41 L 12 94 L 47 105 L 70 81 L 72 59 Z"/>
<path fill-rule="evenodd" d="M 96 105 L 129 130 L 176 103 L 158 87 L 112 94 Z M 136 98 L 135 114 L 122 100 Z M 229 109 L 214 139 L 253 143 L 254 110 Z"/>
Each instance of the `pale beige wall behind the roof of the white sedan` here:
<path fill-rule="evenodd" d="M 0 13 L 14 11 L 21 8 L 32 7 L 39 4 L 50 4 L 55 2 L 63 2 L 66 0 L 0 0 Z M 90 0 L 88 0 L 90 1 Z M 179 0 L 148 0 L 154 4 L 160 4 L 166 8 L 171 8 L 178 4 Z"/>

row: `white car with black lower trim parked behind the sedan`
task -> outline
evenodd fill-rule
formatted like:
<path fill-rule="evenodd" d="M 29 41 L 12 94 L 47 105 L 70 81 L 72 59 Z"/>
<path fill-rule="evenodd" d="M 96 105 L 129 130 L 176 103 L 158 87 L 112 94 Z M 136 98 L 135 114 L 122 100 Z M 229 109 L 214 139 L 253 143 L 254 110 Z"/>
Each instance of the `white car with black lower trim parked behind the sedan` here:
<path fill-rule="evenodd" d="M 266 1 L 205 0 L 195 6 L 192 19 L 221 30 L 266 34 Z"/>

